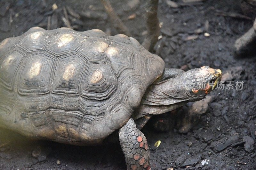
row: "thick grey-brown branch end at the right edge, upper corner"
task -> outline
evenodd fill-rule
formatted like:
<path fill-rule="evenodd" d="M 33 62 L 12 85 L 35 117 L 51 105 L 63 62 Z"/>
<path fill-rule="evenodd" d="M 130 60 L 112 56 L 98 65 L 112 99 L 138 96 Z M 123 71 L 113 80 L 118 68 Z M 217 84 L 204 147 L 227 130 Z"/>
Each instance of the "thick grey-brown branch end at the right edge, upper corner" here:
<path fill-rule="evenodd" d="M 241 55 L 255 50 L 256 43 L 256 18 L 253 27 L 235 42 L 236 54 Z"/>

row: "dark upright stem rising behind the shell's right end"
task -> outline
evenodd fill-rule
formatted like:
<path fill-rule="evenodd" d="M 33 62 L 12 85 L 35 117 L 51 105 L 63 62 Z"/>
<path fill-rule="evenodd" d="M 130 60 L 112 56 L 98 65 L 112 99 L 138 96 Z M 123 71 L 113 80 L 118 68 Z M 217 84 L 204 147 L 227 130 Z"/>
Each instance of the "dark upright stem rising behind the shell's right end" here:
<path fill-rule="evenodd" d="M 157 18 L 158 0 L 148 0 L 146 4 L 146 16 L 147 16 L 147 35 L 144 39 L 142 46 L 151 51 L 160 33 L 159 21 Z"/>

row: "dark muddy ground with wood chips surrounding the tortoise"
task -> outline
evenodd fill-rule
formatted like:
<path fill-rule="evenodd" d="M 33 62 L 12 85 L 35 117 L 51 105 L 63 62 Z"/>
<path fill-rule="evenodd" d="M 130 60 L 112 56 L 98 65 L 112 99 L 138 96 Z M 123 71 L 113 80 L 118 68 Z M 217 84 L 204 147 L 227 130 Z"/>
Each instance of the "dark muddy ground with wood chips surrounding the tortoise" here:
<path fill-rule="evenodd" d="M 252 26 L 252 20 L 216 15 L 216 10 L 242 14 L 239 2 L 206 0 L 171 8 L 165 0 L 159 1 L 158 15 L 163 23 L 163 38 L 160 41 L 164 42 L 161 44 L 163 48 L 157 53 L 167 67 L 188 70 L 208 65 L 220 68 L 224 73 L 238 70 L 228 79 L 244 81 L 244 87 L 242 90 L 216 89 L 212 92 L 214 100 L 209 109 L 188 133 L 179 133 L 178 127 L 157 132 L 147 124 L 142 132 L 148 139 L 152 169 L 256 168 L 256 58 L 234 58 L 233 48 L 235 40 Z M 54 3 L 60 11 L 52 11 Z M 48 16 L 55 18 L 52 28 L 65 26 L 61 20 L 64 16 L 61 11 L 63 6 L 83 13 L 80 19 L 69 16 L 71 25 L 78 31 L 98 28 L 112 35 L 118 33 L 99 0 L 1 0 L 0 4 L 0 41 L 19 36 L 33 26 L 46 29 Z M 145 36 L 145 0 L 111 0 L 111 4 L 131 31 L 132 37 L 142 42 Z M 6 9 L 6 6 L 9 8 Z M 132 14 L 132 17 L 136 15 L 135 18 L 128 19 Z M 199 28 L 203 28 L 203 32 L 196 34 L 195 30 Z M 204 36 L 205 32 L 210 36 Z M 191 38 L 189 36 L 194 36 L 194 39 L 188 40 Z M 186 111 L 187 108 L 185 106 L 182 110 Z M 0 148 L 0 169 L 126 168 L 119 145 L 80 147 L 29 141 L 3 129 L 0 135 L 1 140 L 12 138 L 9 144 Z M 161 140 L 158 148 L 154 146 L 157 140 Z M 38 147 L 42 149 L 41 155 L 34 158 L 32 152 L 34 150 L 33 155 L 36 156 Z"/>

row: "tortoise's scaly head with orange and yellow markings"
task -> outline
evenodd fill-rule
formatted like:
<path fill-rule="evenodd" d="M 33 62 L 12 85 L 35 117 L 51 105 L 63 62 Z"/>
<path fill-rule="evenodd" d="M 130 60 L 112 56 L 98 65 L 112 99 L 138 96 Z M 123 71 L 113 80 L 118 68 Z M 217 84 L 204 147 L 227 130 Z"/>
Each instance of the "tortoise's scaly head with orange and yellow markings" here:
<path fill-rule="evenodd" d="M 190 101 L 202 99 L 212 91 L 221 80 L 221 70 L 208 66 L 188 70 L 180 76 Z"/>

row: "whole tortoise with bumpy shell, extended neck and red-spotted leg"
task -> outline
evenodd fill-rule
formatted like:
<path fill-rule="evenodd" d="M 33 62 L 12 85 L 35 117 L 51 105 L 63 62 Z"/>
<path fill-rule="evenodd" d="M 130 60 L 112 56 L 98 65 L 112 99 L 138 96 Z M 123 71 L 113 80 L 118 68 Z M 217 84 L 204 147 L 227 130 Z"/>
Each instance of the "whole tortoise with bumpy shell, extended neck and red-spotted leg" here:
<path fill-rule="evenodd" d="M 117 134 L 127 168 L 147 169 L 147 116 L 204 98 L 220 78 L 208 66 L 165 68 L 124 34 L 33 27 L 0 44 L 0 127 L 72 145 L 102 145 Z"/>

